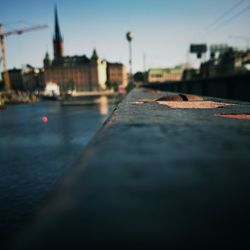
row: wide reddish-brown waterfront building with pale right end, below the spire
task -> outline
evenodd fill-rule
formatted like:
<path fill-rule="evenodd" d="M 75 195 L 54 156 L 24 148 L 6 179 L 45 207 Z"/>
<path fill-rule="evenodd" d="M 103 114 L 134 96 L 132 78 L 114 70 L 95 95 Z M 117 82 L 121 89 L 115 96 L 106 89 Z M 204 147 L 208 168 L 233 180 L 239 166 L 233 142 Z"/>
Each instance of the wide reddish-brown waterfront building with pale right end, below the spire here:
<path fill-rule="evenodd" d="M 96 52 L 94 50 L 93 55 Z M 52 61 L 44 60 L 45 83 L 56 83 L 62 92 L 67 90 L 94 91 L 105 88 L 106 62 L 86 56 L 66 56 Z"/>

